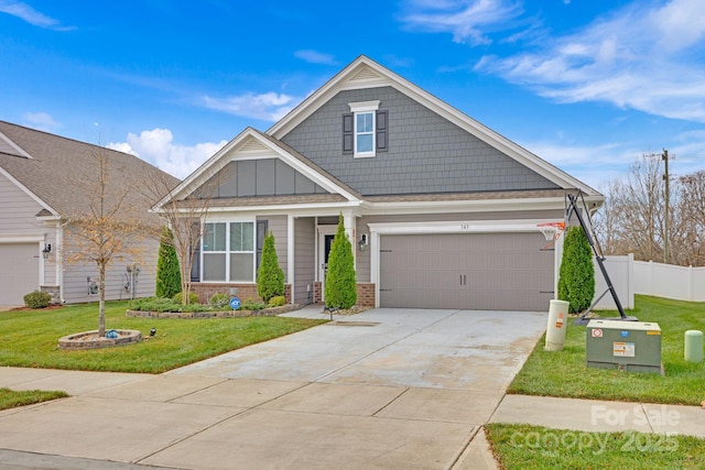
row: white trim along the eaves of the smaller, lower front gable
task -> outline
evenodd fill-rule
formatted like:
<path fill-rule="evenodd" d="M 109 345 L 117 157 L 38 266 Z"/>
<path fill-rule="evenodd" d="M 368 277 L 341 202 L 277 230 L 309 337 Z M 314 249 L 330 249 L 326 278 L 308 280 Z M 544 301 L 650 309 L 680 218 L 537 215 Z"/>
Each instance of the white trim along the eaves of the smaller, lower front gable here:
<path fill-rule="evenodd" d="M 359 201 L 360 195 L 345 183 L 338 181 L 335 176 L 328 174 L 323 168 L 311 162 L 308 159 L 301 155 L 294 149 L 290 147 L 285 143 L 278 141 L 271 135 L 267 135 L 253 128 L 247 128 L 235 139 L 228 142 L 223 149 L 216 152 L 210 159 L 204 162 L 194 173 L 192 173 L 186 179 L 184 179 L 177 187 L 174 188 L 162 200 L 154 205 L 155 210 L 160 210 L 169 200 L 182 200 L 188 197 L 193 192 L 204 185 L 208 179 L 214 177 L 220 170 L 223 170 L 229 162 L 238 160 L 238 157 L 256 159 L 258 156 L 271 157 L 272 155 L 281 159 L 284 163 L 292 166 L 295 171 L 300 172 L 304 176 L 312 179 L 318 186 L 328 190 L 332 197 L 325 197 L 318 195 L 316 197 L 288 197 L 285 200 L 289 204 L 295 204 L 295 201 L 310 201 L 310 200 L 336 200 L 336 201 Z M 275 198 L 270 198 L 271 204 Z M 257 198 L 259 201 L 263 201 L 262 198 Z M 223 207 L 237 207 L 240 205 L 238 201 L 225 201 L 218 200 L 217 206 Z M 252 200 L 247 205 L 251 205 Z"/>

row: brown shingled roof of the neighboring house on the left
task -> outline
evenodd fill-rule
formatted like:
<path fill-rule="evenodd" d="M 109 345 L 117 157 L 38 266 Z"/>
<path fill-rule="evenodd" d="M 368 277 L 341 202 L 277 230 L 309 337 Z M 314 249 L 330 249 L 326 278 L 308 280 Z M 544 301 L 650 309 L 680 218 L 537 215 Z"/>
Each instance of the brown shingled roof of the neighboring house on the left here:
<path fill-rule="evenodd" d="M 143 208 L 145 217 L 153 217 L 147 215 L 153 200 L 138 188 L 155 177 L 169 187 L 178 183 L 134 155 L 0 121 L 0 173 L 43 207 L 39 217 L 70 218 L 90 209 L 98 152 L 108 162 L 108 190 L 127 193 L 127 206 Z"/>

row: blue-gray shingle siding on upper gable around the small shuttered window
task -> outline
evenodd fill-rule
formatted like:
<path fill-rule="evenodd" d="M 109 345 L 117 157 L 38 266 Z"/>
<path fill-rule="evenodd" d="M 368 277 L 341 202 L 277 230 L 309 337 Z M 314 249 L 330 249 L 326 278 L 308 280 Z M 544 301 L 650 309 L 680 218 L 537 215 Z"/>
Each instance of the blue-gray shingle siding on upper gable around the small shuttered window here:
<path fill-rule="evenodd" d="M 369 100 L 389 111 L 388 151 L 355 159 L 341 117 Z M 281 140 L 365 196 L 557 188 L 391 87 L 340 91 Z"/>

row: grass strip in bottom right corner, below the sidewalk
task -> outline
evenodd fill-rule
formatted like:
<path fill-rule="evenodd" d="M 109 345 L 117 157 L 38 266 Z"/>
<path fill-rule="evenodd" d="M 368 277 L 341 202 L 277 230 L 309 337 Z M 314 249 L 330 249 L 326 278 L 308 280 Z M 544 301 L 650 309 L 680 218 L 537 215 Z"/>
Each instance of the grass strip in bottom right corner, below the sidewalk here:
<path fill-rule="evenodd" d="M 503 469 L 702 469 L 705 439 L 642 433 L 584 433 L 489 424 L 488 441 Z"/>

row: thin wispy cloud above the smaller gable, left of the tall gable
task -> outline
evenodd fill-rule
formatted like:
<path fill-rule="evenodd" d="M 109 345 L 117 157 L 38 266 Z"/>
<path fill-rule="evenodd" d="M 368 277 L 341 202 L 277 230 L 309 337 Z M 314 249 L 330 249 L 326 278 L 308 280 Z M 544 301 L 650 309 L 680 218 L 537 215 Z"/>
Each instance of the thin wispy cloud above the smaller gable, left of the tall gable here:
<path fill-rule="evenodd" d="M 248 92 L 227 98 L 205 96 L 202 100 L 206 108 L 262 121 L 280 120 L 293 109 L 292 102 L 295 102 L 294 97 L 273 91 L 259 95 Z"/>

